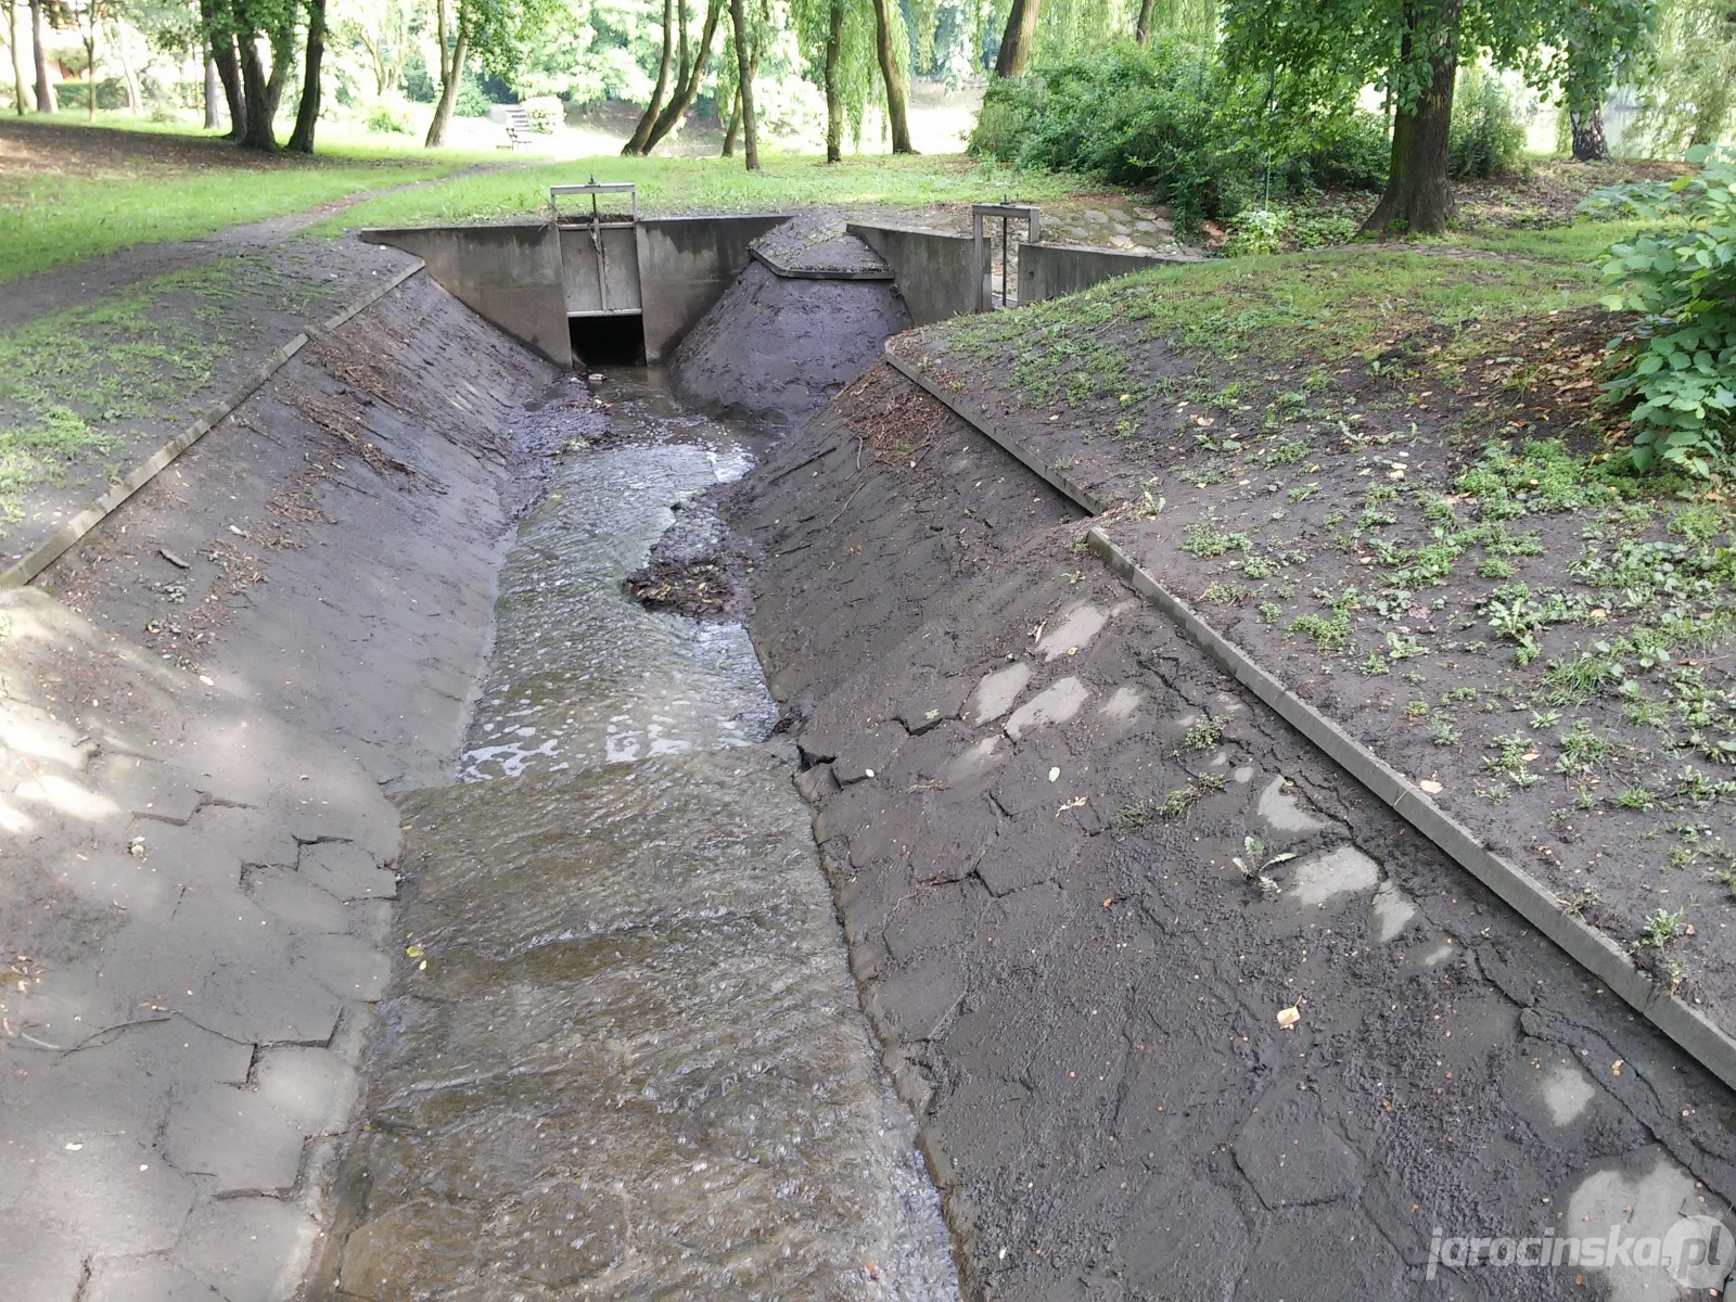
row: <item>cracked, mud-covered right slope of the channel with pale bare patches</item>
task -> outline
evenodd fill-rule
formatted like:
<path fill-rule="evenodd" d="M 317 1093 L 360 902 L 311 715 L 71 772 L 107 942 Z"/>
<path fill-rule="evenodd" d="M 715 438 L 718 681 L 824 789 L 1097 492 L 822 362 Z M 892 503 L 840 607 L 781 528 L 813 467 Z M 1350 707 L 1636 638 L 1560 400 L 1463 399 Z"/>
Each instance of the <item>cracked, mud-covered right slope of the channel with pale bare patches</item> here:
<path fill-rule="evenodd" d="M 901 389 L 840 396 L 734 523 L 967 1292 L 1674 1295 L 1641 1267 L 1425 1278 L 1436 1227 L 1719 1210 L 1727 1094 Z"/>

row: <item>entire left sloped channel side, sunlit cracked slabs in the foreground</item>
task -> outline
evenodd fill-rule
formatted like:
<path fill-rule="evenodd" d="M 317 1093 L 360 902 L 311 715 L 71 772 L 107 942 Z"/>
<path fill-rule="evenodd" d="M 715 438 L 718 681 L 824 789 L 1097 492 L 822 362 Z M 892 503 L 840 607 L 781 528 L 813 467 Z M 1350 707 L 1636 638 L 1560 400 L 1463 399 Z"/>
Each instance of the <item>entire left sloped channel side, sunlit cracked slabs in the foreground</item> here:
<path fill-rule="evenodd" d="M 549 378 L 411 279 L 7 594 L 7 1297 L 297 1288 Z"/>

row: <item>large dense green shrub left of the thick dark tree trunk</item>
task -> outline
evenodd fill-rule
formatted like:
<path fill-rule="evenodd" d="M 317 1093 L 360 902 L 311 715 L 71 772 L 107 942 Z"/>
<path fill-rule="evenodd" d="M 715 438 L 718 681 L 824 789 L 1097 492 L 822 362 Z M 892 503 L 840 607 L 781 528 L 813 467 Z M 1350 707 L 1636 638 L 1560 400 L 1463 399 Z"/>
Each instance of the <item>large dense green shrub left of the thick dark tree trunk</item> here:
<path fill-rule="evenodd" d="M 1201 45 L 1121 45 L 991 83 L 970 153 L 1149 186 L 1182 226 L 1248 208 L 1266 191 L 1267 165 L 1274 193 L 1316 175 L 1352 186 L 1385 179 L 1378 118 L 1345 115 L 1305 139 L 1279 137 L 1288 115 L 1267 109 L 1267 92 L 1226 73 Z"/>

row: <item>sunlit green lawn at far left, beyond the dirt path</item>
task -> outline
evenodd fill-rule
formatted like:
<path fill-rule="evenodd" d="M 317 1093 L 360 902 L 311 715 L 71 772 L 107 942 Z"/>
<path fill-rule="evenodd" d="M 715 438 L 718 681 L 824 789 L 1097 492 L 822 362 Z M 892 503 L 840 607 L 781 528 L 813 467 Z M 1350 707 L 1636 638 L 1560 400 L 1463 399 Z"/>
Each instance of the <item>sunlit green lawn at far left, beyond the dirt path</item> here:
<path fill-rule="evenodd" d="M 73 123 L 56 123 L 73 125 Z M 205 135 L 128 132 L 137 156 L 116 149 L 118 130 L 89 128 L 90 158 L 66 135 L 38 137 L 62 170 L 0 170 L 0 285 L 36 271 L 163 240 L 193 240 L 333 203 L 370 189 L 429 181 L 500 161 L 498 155 L 424 153 L 406 142 L 345 144 L 314 158 L 255 156 Z M 33 148 L 9 125 L 7 141 Z M 167 148 L 163 148 L 167 146 Z"/>

